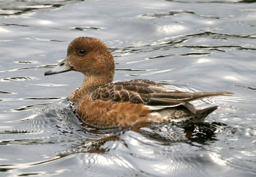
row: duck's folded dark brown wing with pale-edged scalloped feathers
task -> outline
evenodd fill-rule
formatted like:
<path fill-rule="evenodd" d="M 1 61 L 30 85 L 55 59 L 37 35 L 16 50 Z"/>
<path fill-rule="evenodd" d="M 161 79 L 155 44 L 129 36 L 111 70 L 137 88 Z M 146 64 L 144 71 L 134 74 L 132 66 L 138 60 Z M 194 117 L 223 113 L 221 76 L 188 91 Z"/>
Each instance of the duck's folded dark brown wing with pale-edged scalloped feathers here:
<path fill-rule="evenodd" d="M 100 87 L 92 93 L 92 100 L 111 101 L 113 103 L 142 103 L 151 110 L 159 110 L 179 105 L 184 105 L 188 110 L 194 110 L 194 107 L 191 108 L 191 105 L 188 104 L 188 102 L 224 94 L 231 94 L 231 92 L 190 93 L 169 91 L 167 88 L 154 81 L 136 79 L 110 83 L 106 86 Z"/>

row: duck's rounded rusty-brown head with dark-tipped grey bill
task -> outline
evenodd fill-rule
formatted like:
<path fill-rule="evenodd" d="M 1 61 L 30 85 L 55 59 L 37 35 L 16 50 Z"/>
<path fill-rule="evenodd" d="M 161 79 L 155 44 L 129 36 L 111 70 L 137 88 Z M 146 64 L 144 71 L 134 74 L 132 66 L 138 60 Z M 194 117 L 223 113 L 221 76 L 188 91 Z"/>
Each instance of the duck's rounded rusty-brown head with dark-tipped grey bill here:
<path fill-rule="evenodd" d="M 68 46 L 67 57 L 44 75 L 78 71 L 89 76 L 114 76 L 115 64 L 108 47 L 100 39 L 79 37 Z"/>

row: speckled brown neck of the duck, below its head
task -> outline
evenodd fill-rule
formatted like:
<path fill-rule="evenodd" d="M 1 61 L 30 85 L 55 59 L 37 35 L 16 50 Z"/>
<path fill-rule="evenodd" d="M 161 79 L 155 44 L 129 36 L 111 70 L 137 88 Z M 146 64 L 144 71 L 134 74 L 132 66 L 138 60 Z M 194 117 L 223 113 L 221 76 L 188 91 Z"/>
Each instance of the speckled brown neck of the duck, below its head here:
<path fill-rule="evenodd" d="M 84 81 L 81 87 L 72 92 L 69 96 L 69 100 L 73 103 L 78 103 L 79 100 L 92 93 L 97 88 L 104 86 L 113 81 L 113 77 L 107 75 L 100 76 L 84 76 Z"/>

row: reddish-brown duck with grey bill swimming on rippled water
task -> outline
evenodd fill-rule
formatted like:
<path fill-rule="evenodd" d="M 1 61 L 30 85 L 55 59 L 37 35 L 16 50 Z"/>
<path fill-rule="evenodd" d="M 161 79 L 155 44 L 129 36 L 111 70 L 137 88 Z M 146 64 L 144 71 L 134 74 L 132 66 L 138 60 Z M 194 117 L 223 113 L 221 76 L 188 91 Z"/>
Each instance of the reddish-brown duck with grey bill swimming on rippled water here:
<path fill-rule="evenodd" d="M 182 92 L 145 79 L 113 82 L 114 57 L 100 39 L 78 37 L 69 45 L 65 60 L 44 75 L 77 71 L 81 87 L 68 97 L 76 114 L 95 127 L 134 127 L 149 123 L 197 123 L 217 106 L 197 110 L 189 102 L 232 92 Z"/>

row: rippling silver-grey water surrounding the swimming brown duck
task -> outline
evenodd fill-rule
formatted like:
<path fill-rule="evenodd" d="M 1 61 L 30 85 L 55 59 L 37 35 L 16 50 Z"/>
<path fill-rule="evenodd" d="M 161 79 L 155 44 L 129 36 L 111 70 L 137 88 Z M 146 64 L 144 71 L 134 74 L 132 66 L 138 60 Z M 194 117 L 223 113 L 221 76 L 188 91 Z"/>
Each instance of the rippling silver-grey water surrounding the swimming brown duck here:
<path fill-rule="evenodd" d="M 0 176 L 255 176 L 256 1 L 0 1 Z M 110 47 L 115 81 L 231 91 L 201 124 L 95 129 L 44 77 L 79 36 Z"/>

